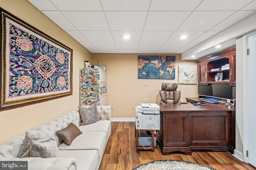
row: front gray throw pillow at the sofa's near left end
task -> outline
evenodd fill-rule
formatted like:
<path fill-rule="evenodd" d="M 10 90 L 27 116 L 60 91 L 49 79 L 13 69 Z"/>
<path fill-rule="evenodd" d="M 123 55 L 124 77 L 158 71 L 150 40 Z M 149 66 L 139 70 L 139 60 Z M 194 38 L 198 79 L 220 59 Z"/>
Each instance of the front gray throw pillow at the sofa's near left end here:
<path fill-rule="evenodd" d="M 46 141 L 41 143 L 34 143 L 32 146 L 20 157 L 41 157 L 41 158 L 53 158 L 58 153 L 58 147 L 55 140 Z"/>

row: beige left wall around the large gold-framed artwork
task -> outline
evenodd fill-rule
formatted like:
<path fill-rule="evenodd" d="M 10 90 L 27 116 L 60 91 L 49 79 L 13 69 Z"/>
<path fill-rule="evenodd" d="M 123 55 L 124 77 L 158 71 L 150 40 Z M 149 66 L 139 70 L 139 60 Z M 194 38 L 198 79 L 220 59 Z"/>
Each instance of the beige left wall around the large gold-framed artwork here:
<path fill-rule="evenodd" d="M 12 137 L 24 135 L 27 130 L 77 107 L 79 105 L 79 68 L 83 68 L 84 61 L 90 61 L 92 55 L 27 0 L 0 0 L 0 4 L 4 10 L 73 49 L 73 95 L 0 111 L 0 144 L 2 144 Z"/>

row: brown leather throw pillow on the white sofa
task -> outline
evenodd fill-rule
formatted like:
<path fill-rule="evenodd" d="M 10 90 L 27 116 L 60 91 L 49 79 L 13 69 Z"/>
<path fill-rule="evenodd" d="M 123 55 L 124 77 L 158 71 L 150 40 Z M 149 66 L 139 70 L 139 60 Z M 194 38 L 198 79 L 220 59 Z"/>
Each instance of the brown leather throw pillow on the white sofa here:
<path fill-rule="evenodd" d="M 61 137 L 61 139 L 69 146 L 71 145 L 72 141 L 78 137 L 78 135 L 81 135 L 82 132 L 74 123 L 70 123 L 67 127 L 64 129 L 57 131 L 56 134 Z"/>

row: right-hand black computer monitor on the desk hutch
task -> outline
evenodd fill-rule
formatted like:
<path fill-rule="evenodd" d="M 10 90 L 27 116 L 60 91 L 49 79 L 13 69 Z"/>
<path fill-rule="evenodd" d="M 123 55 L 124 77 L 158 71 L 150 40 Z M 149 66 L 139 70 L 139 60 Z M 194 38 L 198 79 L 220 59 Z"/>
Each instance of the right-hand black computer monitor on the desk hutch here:
<path fill-rule="evenodd" d="M 229 84 L 212 84 L 212 95 L 216 98 L 233 100 L 232 86 Z"/>

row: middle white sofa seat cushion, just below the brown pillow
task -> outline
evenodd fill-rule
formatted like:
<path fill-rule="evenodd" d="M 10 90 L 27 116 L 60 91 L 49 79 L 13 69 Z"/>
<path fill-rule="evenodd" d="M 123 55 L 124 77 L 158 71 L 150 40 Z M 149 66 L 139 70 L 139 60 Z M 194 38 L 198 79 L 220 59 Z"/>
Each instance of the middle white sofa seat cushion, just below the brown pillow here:
<path fill-rule="evenodd" d="M 87 126 L 87 125 L 86 125 Z M 58 147 L 59 150 L 85 150 L 96 149 L 98 155 L 101 156 L 104 152 L 104 147 L 107 141 L 106 132 L 83 132 L 76 137 L 70 146 L 62 143 Z"/>

